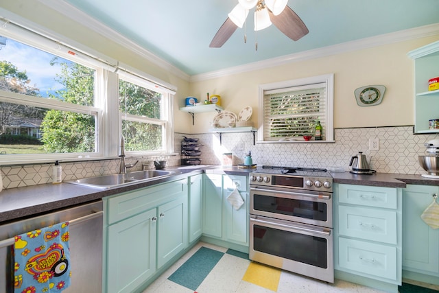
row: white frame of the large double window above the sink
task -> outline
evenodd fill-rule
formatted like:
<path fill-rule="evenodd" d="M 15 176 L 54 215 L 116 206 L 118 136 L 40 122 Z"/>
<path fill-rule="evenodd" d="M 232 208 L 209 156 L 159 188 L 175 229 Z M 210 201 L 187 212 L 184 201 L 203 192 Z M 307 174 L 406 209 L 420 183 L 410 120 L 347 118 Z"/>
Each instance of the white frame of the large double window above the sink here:
<path fill-rule="evenodd" d="M 173 99 L 176 93 L 176 86 L 163 82 L 152 75 L 139 71 L 113 60 L 103 54 L 96 54 L 84 45 L 75 43 L 59 34 L 48 34 L 47 30 L 29 30 L 10 19 L 2 19 L 3 25 L 0 27 L 0 36 L 11 38 L 25 45 L 29 45 L 46 51 L 55 56 L 76 62 L 80 65 L 95 69 L 95 93 L 94 106 L 82 106 L 56 101 L 54 99 L 32 97 L 16 94 L 8 91 L 0 91 L 0 99 L 4 102 L 12 102 L 19 95 L 21 103 L 29 106 L 40 106 L 43 108 L 53 108 L 56 110 L 68 110 L 78 113 L 95 112 L 96 121 L 96 152 L 93 153 L 54 153 L 54 154 L 6 154 L 0 156 L 0 163 L 45 163 L 58 161 L 88 161 L 91 159 L 116 159 L 119 155 L 119 143 L 121 137 L 121 115 L 119 113 L 119 75 L 129 76 L 130 80 L 136 80 L 140 86 L 153 89 L 162 93 L 163 105 L 161 111 L 167 117 L 164 126 L 163 136 L 165 137 L 164 149 L 157 152 L 128 152 L 129 155 L 169 155 L 174 154 L 174 117 Z M 35 26 L 38 27 L 38 26 Z M 75 48 L 67 44 L 75 44 Z M 94 56 L 87 54 L 93 52 Z M 97 57 L 98 56 L 98 57 Z M 113 65 L 117 64 L 117 65 Z M 130 81 L 128 80 L 128 81 Z M 132 81 L 130 81 L 132 82 Z M 85 111 L 85 112 L 84 112 Z M 115 121 L 114 117 L 118 117 Z M 117 131 L 115 131 L 117 129 Z"/>

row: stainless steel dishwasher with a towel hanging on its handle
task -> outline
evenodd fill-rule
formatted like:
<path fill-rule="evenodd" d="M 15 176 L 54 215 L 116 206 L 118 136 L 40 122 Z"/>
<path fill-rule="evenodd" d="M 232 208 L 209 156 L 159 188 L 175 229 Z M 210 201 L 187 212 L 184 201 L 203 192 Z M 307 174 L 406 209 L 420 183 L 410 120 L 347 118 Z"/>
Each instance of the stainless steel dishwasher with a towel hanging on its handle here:
<path fill-rule="evenodd" d="M 102 201 L 0 225 L 0 293 L 14 292 L 14 236 L 69 221 L 71 285 L 63 292 L 102 292 Z"/>

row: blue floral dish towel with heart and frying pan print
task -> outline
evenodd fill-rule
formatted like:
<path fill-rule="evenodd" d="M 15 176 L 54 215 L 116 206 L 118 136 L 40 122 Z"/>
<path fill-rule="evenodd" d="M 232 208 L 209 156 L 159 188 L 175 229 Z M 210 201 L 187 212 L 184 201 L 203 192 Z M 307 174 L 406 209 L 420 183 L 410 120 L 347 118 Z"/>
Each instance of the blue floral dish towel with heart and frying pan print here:
<path fill-rule="evenodd" d="M 61 292 L 70 285 L 69 222 L 15 236 L 14 293 Z"/>

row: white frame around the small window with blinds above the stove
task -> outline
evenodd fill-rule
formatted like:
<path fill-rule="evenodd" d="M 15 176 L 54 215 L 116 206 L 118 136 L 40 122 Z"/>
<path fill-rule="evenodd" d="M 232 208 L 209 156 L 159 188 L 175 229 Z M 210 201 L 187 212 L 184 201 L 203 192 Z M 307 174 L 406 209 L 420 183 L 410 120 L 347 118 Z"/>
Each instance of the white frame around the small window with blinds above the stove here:
<path fill-rule="evenodd" d="M 299 78 L 295 80 L 285 80 L 282 82 L 274 82 L 270 84 L 260 84 L 258 97 L 259 97 L 259 123 L 258 123 L 258 135 L 257 135 L 257 143 L 298 143 L 304 141 L 268 141 L 264 140 L 265 132 L 268 131 L 264 129 L 263 121 L 265 120 L 265 108 L 264 108 L 264 92 L 265 91 L 274 91 L 281 89 L 288 89 L 292 87 L 299 86 L 309 86 L 312 84 L 316 84 L 317 87 L 321 87 L 321 84 L 326 84 L 326 111 L 324 115 L 324 124 L 326 125 L 326 129 L 324 129 L 325 139 L 322 141 L 306 141 L 307 143 L 314 142 L 335 142 L 334 141 L 334 123 L 333 123 L 333 99 L 334 99 L 334 74 L 324 74 L 313 76 L 309 78 Z M 320 84 L 320 86 L 319 86 Z M 322 120 L 323 121 L 323 120 Z M 264 132 L 265 131 L 265 132 Z"/>

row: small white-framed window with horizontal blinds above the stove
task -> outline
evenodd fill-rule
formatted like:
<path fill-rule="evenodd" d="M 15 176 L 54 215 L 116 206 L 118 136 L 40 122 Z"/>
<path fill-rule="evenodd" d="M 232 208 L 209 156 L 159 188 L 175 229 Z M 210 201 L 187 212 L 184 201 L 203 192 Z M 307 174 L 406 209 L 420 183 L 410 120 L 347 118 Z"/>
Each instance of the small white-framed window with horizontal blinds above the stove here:
<path fill-rule="evenodd" d="M 314 137 L 317 121 L 323 127 L 323 141 L 333 141 L 333 74 L 263 84 L 259 105 L 258 142 Z"/>

